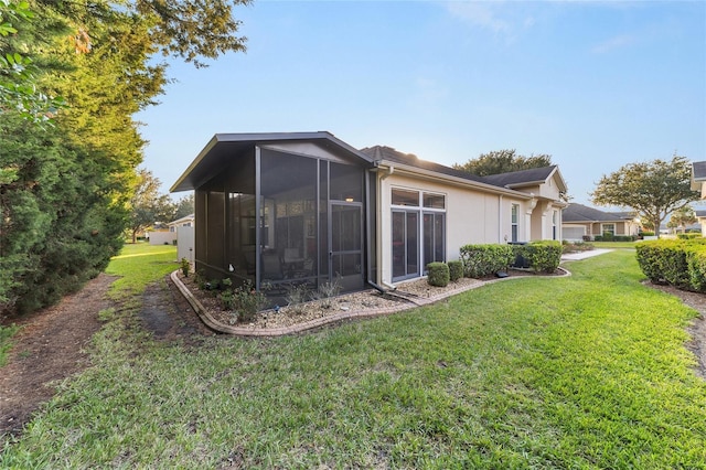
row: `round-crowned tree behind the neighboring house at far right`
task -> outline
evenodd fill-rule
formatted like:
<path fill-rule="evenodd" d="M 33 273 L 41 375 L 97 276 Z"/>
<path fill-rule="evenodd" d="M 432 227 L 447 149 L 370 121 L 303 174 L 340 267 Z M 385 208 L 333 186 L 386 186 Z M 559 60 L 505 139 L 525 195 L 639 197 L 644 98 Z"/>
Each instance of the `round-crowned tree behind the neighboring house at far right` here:
<path fill-rule="evenodd" d="M 630 163 L 603 175 L 591 193 L 593 204 L 630 207 L 659 233 L 662 221 L 699 193 L 691 189 L 691 164 L 685 157 L 672 161 Z"/>

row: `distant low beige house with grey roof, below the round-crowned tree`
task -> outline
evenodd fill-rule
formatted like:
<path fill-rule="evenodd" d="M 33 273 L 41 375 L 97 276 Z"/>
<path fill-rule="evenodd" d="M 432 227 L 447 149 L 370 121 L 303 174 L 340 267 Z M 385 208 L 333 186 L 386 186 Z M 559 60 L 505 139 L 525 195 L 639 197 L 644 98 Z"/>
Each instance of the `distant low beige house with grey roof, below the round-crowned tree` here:
<path fill-rule="evenodd" d="M 569 204 L 561 214 L 564 239 L 593 239 L 597 235 L 638 235 L 640 223 L 630 212 L 603 212 L 582 204 Z"/>

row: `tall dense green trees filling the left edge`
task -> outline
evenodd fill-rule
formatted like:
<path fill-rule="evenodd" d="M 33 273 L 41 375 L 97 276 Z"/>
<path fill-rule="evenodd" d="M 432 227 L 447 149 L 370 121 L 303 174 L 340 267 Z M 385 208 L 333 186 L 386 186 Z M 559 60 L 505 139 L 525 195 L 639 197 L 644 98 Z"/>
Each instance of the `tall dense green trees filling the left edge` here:
<path fill-rule="evenodd" d="M 0 0 L 0 314 L 51 305 L 118 253 L 145 140 L 132 116 L 169 82 L 243 51 L 249 0 Z"/>

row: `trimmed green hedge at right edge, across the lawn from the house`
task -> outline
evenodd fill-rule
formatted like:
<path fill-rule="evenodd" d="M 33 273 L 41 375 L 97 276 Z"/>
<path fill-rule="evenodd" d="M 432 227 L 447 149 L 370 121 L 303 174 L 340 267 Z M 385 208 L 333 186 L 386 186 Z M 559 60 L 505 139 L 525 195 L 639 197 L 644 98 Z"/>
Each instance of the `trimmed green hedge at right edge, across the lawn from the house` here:
<path fill-rule="evenodd" d="M 706 239 L 660 239 L 635 246 L 642 273 L 655 284 L 706 291 Z"/>

